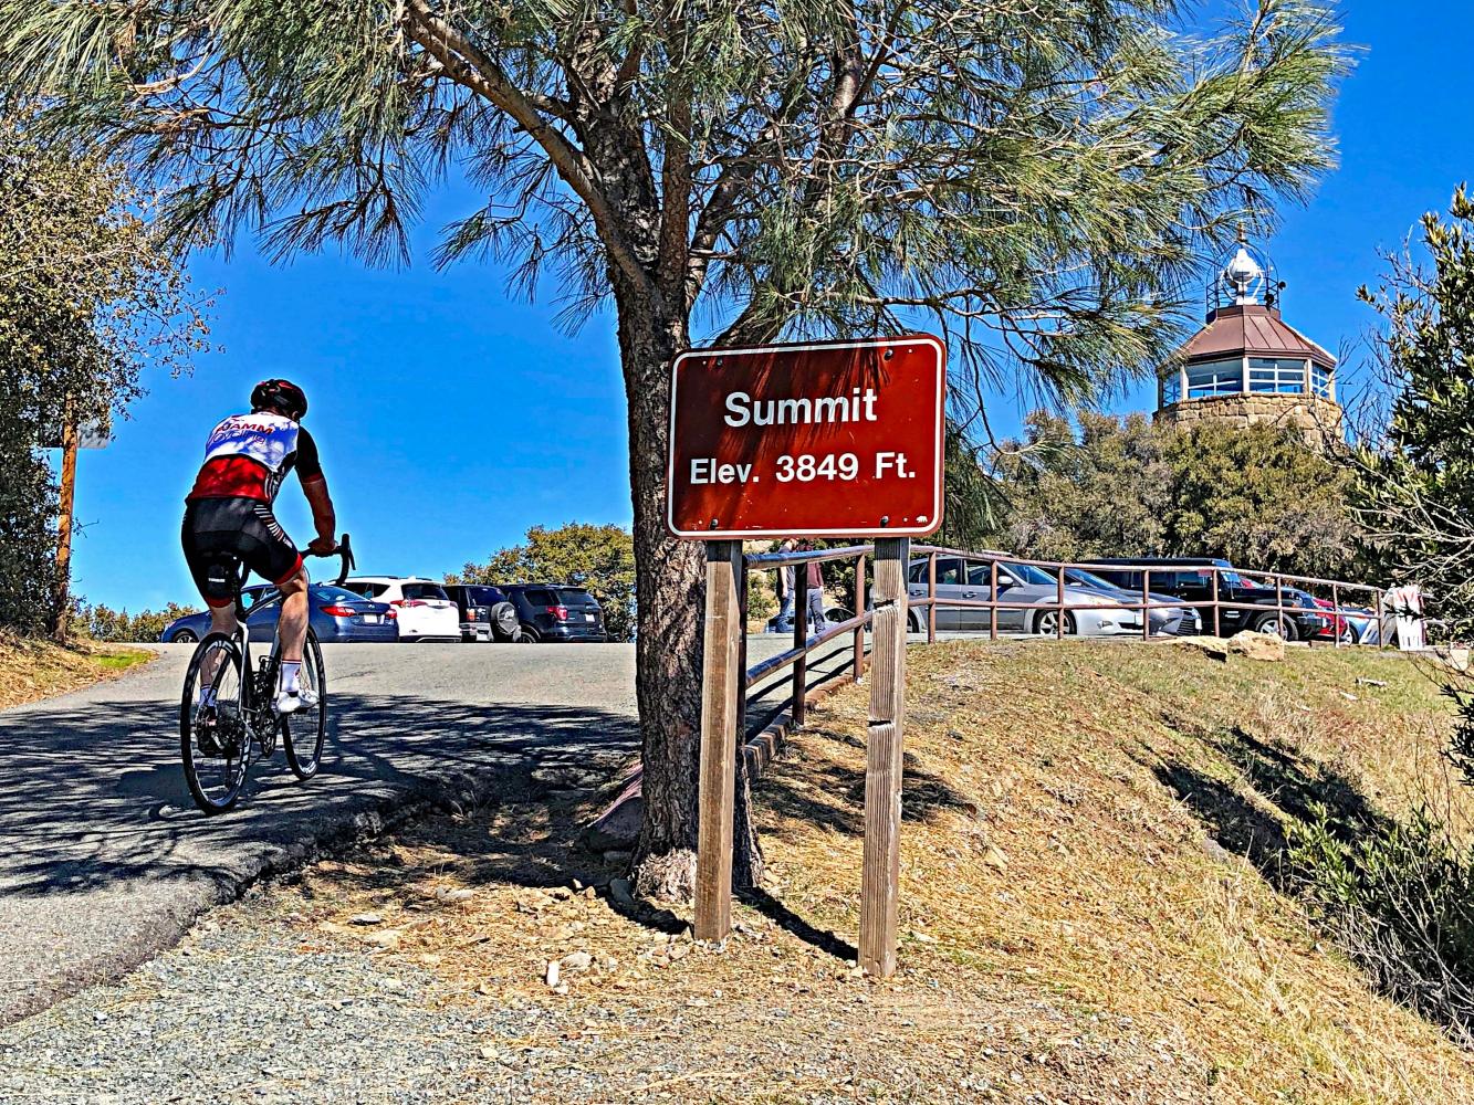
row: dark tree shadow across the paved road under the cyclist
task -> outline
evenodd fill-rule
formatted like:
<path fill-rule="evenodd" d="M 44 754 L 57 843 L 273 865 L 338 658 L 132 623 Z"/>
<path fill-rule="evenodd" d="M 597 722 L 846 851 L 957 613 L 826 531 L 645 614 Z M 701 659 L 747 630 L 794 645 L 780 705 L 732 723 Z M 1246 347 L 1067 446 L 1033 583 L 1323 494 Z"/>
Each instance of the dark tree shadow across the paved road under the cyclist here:
<path fill-rule="evenodd" d="M 0 888 L 12 899 L 196 883 L 217 897 L 289 868 L 314 841 L 373 828 L 405 804 L 454 809 L 567 797 L 638 750 L 626 715 L 587 707 L 463 706 L 335 695 L 317 778 L 280 746 L 240 804 L 205 818 L 178 759 L 177 707 L 102 701 L 0 719 Z"/>

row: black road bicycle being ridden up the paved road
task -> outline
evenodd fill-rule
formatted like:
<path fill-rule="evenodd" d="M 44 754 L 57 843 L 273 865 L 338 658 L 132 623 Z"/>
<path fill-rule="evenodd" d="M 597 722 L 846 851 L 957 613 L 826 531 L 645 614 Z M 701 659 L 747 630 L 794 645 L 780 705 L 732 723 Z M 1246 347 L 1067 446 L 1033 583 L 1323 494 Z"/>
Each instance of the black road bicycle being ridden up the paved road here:
<path fill-rule="evenodd" d="M 346 533 L 333 552 L 304 555 L 338 557 L 339 585 L 354 569 L 352 545 Z M 293 715 L 279 715 L 274 698 L 282 664 L 282 622 L 277 620 L 271 651 L 261 657 L 256 667 L 251 662 L 251 632 L 240 600 L 251 570 L 239 557 L 223 558 L 221 566 L 236 603 L 236 632 L 205 635 L 190 657 L 180 700 L 184 779 L 195 804 L 205 813 L 224 813 L 236 804 L 246 785 L 246 772 L 252 763 L 268 759 L 276 751 L 279 732 L 286 763 L 302 781 L 317 774 L 327 737 L 327 675 L 323 670 L 323 650 L 312 628 L 307 629 L 299 681 L 317 695 L 317 704 Z M 215 695 L 212 703 L 203 703 L 196 691 L 200 673 L 209 670 L 215 672 Z"/>

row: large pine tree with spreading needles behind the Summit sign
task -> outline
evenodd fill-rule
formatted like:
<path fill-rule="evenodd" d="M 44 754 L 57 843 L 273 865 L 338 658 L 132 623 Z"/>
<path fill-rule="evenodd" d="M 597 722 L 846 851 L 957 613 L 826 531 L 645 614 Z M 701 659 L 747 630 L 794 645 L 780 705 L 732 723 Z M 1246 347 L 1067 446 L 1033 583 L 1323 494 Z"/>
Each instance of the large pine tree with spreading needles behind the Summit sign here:
<path fill-rule="evenodd" d="M 429 189 L 488 197 L 436 261 L 615 317 L 638 588 L 644 893 L 693 881 L 702 548 L 663 526 L 693 342 L 949 340 L 965 420 L 1160 361 L 1184 278 L 1328 168 L 1328 7 L 1213 37 L 1175 0 L 0 0 L 0 81 L 60 141 L 178 181 L 183 233 L 408 258 Z M 743 865 L 738 865 L 743 866 Z"/>

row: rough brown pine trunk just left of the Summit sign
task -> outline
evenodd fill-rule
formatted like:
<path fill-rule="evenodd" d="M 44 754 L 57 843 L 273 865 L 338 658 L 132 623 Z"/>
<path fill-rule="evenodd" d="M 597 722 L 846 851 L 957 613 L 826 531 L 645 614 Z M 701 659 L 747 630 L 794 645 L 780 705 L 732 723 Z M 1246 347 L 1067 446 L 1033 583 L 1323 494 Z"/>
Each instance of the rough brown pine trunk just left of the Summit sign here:
<path fill-rule="evenodd" d="M 629 407 L 638 638 L 635 695 L 644 760 L 644 829 L 635 852 L 640 894 L 681 900 L 696 885 L 697 775 L 702 732 L 705 547 L 665 527 L 671 361 L 687 340 L 684 312 L 615 278 L 619 354 Z M 740 734 L 738 734 L 740 740 Z M 733 748 L 737 754 L 737 748 Z M 753 884 L 762 856 L 740 776 L 734 881 Z"/>

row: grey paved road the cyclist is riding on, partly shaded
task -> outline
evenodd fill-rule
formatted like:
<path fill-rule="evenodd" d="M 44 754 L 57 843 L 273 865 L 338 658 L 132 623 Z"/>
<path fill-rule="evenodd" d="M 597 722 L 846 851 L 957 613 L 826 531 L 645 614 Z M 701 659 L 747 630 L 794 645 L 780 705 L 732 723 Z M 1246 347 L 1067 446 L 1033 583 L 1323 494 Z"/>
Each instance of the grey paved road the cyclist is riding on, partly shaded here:
<path fill-rule="evenodd" d="M 752 662 L 784 644 L 752 638 Z M 597 785 L 638 747 L 629 645 L 329 645 L 323 774 L 299 784 L 277 753 L 234 812 L 205 819 L 178 765 L 189 648 L 159 651 L 0 713 L 0 1024 L 116 977 L 199 911 L 416 796 Z"/>

